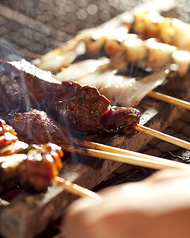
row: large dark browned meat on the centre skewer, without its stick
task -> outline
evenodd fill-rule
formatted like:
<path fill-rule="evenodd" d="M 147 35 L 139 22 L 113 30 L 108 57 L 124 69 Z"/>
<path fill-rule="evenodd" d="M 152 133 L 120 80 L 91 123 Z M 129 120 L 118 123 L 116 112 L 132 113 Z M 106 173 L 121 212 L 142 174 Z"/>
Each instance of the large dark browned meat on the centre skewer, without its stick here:
<path fill-rule="evenodd" d="M 110 101 L 100 95 L 96 88 L 83 87 L 76 82 L 60 83 L 50 73 L 24 60 L 11 63 L 0 61 L 0 90 L 0 112 L 22 112 L 35 108 L 47 112 L 68 131 L 98 133 L 104 128 L 104 114 L 112 112 Z M 140 114 L 137 109 L 133 112 L 134 116 Z M 117 125 L 112 123 L 113 129 L 116 126 L 120 130 L 124 128 L 123 122 L 127 121 L 127 115 L 121 113 L 117 117 Z M 125 131 L 127 127 L 128 124 Z"/>

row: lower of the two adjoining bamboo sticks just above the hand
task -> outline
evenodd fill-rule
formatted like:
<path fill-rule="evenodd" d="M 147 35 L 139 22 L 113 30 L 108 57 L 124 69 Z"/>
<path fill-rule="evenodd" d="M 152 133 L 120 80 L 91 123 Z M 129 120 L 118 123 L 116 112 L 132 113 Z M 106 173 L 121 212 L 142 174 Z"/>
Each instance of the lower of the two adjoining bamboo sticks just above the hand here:
<path fill-rule="evenodd" d="M 131 153 L 131 151 L 127 151 L 128 154 L 124 155 L 124 154 L 117 154 L 117 153 L 108 152 L 108 151 L 101 151 L 101 150 L 74 147 L 74 146 L 62 146 L 62 149 L 64 151 L 68 151 L 71 153 L 78 153 L 78 154 L 82 154 L 86 156 L 108 159 L 112 161 L 117 161 L 121 163 L 127 163 L 127 164 L 132 164 L 132 165 L 142 166 L 142 167 L 147 167 L 152 169 L 175 168 L 175 169 L 190 170 L 189 165 L 176 162 L 176 161 L 162 159 L 156 156 L 144 155 L 138 152 Z"/>

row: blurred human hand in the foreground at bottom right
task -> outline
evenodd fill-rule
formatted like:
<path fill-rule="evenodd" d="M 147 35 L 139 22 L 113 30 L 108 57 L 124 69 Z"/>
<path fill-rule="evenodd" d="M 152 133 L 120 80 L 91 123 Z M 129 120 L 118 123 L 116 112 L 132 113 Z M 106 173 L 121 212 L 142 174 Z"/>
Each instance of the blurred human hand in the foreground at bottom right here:
<path fill-rule="evenodd" d="M 189 238 L 190 172 L 163 170 L 103 189 L 68 209 L 66 238 Z"/>

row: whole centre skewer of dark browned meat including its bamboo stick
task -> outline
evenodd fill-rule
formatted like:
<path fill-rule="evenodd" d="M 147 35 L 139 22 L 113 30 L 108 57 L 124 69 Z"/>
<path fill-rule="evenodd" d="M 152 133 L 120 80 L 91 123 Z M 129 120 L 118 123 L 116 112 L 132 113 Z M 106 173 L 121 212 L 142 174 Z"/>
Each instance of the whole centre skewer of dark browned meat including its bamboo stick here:
<path fill-rule="evenodd" d="M 140 129 L 140 126 L 137 126 L 141 116 L 138 109 L 110 107 L 110 101 L 94 87 L 83 87 L 76 82 L 60 83 L 51 75 L 44 74 L 44 71 L 25 61 L 13 64 L 14 66 L 8 62 L 1 62 L 3 70 L 0 79 L 3 78 L 3 80 L 0 80 L 0 89 L 4 100 L 0 105 L 1 110 L 6 111 L 7 107 L 12 111 L 18 110 L 19 107 L 23 110 L 28 106 L 45 110 L 65 128 L 69 126 L 70 130 L 74 129 L 77 133 L 96 134 L 105 130 L 131 135 Z M 25 77 L 19 78 L 18 73 L 19 75 L 24 73 Z M 11 74 L 11 80 L 9 74 Z M 40 78 L 37 75 L 40 75 Z M 6 80 L 4 80 L 5 77 Z M 26 86 L 23 86 L 23 80 Z M 15 88 L 9 91 L 4 90 L 9 84 Z M 13 101 L 11 105 L 9 98 Z M 25 98 L 26 100 L 23 100 Z M 141 131 L 147 133 L 148 128 L 142 130 L 141 127 Z M 152 134 L 151 131 L 152 136 L 158 134 L 160 135 L 159 132 Z M 168 141 L 167 135 L 162 136 L 162 139 Z M 180 140 L 179 143 L 178 139 L 171 141 L 169 138 L 169 142 L 186 149 L 190 148 L 190 143 L 185 141 Z"/>

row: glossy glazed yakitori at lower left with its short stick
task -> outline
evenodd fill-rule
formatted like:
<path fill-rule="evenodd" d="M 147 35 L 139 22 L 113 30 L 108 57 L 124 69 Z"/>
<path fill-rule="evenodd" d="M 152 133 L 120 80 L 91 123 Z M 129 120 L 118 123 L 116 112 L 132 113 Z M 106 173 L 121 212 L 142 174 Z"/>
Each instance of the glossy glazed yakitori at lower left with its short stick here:
<path fill-rule="evenodd" d="M 19 141 L 15 130 L 0 119 L 0 180 L 18 177 L 21 184 L 30 184 L 37 190 L 53 182 L 77 196 L 100 200 L 96 193 L 58 177 L 62 157 L 61 147 L 55 144 L 37 146 Z"/>

